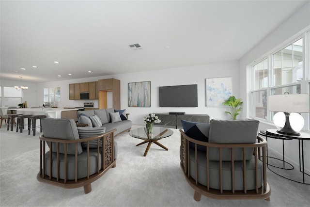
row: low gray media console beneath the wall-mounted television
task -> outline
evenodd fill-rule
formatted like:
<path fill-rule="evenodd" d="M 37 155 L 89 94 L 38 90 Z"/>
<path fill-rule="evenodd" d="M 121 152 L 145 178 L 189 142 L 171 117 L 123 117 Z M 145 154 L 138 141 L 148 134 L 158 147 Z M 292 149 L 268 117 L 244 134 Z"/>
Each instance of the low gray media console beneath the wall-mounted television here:
<path fill-rule="evenodd" d="M 210 123 L 210 117 L 208 114 L 177 114 L 170 113 L 155 113 L 161 121 L 156 126 L 164 127 L 182 127 L 181 120 L 190 121 L 190 122 L 199 122 L 199 123 Z M 183 113 L 183 112 L 182 112 Z"/>

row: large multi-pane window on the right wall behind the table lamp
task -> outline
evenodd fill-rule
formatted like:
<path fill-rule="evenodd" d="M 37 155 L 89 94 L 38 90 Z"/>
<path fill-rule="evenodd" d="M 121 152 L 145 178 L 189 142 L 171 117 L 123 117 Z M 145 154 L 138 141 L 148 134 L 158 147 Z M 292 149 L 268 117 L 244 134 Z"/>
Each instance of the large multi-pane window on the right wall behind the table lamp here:
<path fill-rule="evenodd" d="M 250 66 L 251 117 L 272 122 L 274 111 L 268 110 L 268 96 L 284 93 L 309 94 L 310 63 L 308 62 L 310 62 L 310 57 L 305 57 L 305 51 L 310 51 L 310 41 L 305 41 L 305 39 L 310 39 L 310 31 L 302 35 L 303 37 L 280 46 L 274 52 L 266 54 L 261 59 L 262 61 Z M 302 115 L 305 120 L 309 120 L 308 113 Z M 310 129 L 310 124 L 307 129 Z"/>

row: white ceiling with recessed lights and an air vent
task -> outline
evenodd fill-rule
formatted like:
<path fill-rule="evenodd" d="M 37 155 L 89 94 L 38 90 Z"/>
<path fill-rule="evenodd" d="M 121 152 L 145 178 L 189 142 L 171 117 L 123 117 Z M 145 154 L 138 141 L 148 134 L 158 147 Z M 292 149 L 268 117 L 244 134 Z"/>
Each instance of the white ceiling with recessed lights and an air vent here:
<path fill-rule="evenodd" d="M 1 0 L 0 77 L 36 83 L 236 61 L 305 3 Z"/>

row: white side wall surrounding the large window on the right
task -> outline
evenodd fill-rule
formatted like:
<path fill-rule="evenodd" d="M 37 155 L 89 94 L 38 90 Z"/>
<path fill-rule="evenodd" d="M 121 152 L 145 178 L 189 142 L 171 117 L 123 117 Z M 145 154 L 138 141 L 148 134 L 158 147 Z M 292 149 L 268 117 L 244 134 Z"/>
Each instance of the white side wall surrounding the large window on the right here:
<path fill-rule="evenodd" d="M 272 19 L 270 19 L 272 21 Z M 310 2 L 305 4 L 298 12 L 287 19 L 283 24 L 271 32 L 268 36 L 264 37 L 263 40 L 252 50 L 248 51 L 247 54 L 240 59 L 240 80 L 249 80 L 249 71 L 247 70 L 247 65 L 253 64 L 254 61 L 259 61 L 263 55 L 267 54 L 269 51 L 283 44 L 292 37 L 295 36 L 297 32 L 303 31 L 305 29 L 310 29 Z M 306 92 L 309 93 L 309 92 Z M 240 81 L 240 96 L 244 100 L 245 106 L 249 109 L 249 81 Z M 243 117 L 247 117 L 249 111 L 243 111 Z M 259 130 L 265 130 L 268 128 L 276 128 L 270 123 L 260 123 Z M 289 142 L 289 143 L 288 143 Z M 296 166 L 299 165 L 298 157 L 298 142 L 297 140 L 286 141 L 285 155 L 289 162 L 293 162 Z M 304 142 L 304 148 L 310 148 L 310 142 Z M 282 143 L 280 140 L 269 139 L 268 149 L 274 150 L 282 155 Z M 305 167 L 307 171 L 310 171 L 310 151 L 305 151 Z"/>

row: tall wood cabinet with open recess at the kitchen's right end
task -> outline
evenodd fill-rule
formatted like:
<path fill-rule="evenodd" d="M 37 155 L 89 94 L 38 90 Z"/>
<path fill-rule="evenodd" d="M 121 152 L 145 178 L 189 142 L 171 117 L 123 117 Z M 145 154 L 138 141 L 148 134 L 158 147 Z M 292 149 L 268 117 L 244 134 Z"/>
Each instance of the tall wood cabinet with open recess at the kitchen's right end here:
<path fill-rule="evenodd" d="M 121 109 L 121 81 L 117 79 L 98 80 L 99 109 L 108 108 L 108 92 L 112 92 L 112 107 Z"/>

